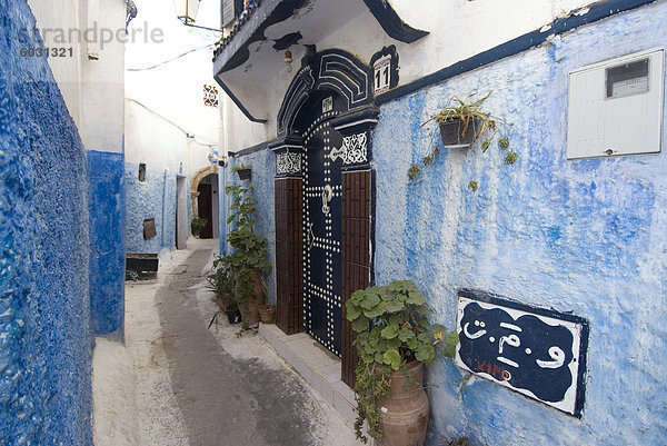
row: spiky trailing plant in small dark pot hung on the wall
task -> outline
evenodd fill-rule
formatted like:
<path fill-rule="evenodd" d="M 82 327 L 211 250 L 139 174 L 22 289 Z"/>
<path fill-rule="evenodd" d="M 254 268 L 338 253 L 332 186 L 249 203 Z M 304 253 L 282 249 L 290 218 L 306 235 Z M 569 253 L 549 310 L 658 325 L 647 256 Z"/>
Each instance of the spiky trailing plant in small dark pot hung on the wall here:
<path fill-rule="evenodd" d="M 469 95 L 466 99 L 454 97 L 449 100 L 447 107 L 430 117 L 421 127 L 436 121 L 440 127 L 440 138 L 445 148 L 467 148 L 481 140 L 481 151 L 486 152 L 491 147 L 500 126 L 506 128 L 512 126 L 505 119 L 482 109 L 484 102 L 491 96 L 491 92 L 489 91 L 484 98 L 477 100 L 472 100 L 474 95 Z M 500 137 L 498 147 L 507 150 L 509 148 L 509 137 Z M 429 150 L 421 160 L 412 162 L 408 169 L 408 177 L 411 180 L 418 179 L 421 176 L 422 168 L 431 165 L 438 155 L 439 149 L 436 147 Z M 514 165 L 518 159 L 519 155 L 515 150 L 507 150 L 504 162 Z M 477 181 L 468 184 L 468 188 L 472 191 L 477 191 L 478 187 Z"/>

